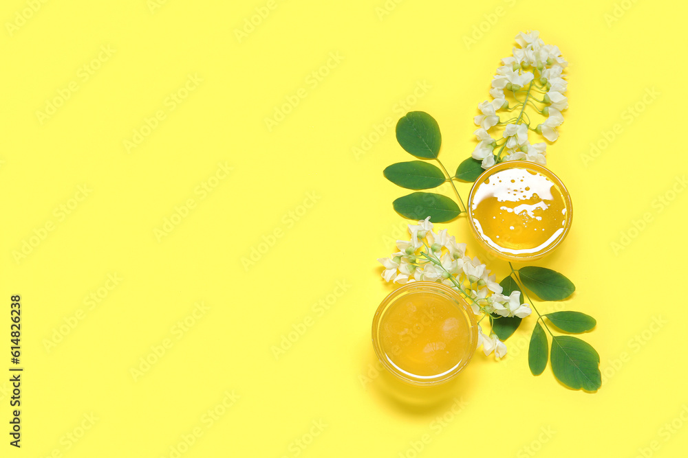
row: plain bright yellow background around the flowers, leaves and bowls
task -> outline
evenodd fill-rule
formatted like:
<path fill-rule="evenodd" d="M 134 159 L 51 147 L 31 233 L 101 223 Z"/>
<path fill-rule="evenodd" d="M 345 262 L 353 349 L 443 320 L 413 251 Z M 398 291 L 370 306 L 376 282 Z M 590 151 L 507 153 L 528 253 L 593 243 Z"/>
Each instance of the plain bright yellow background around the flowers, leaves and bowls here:
<path fill-rule="evenodd" d="M 37 10 L 25 12 L 30 5 Z M 671 190 L 682 190 L 688 165 L 685 5 L 266 5 L 3 2 L 0 329 L 9 347 L 10 295 L 21 294 L 25 371 L 21 450 L 8 445 L 9 375 L 1 378 L 1 455 L 682 456 L 688 193 Z M 256 8 L 269 14 L 237 34 Z M 570 62 L 570 108 L 548 166 L 572 194 L 574 223 L 535 264 L 576 284 L 566 310 L 597 319 L 583 339 L 601 355 L 603 387 L 566 389 L 549 366 L 530 375 L 531 317 L 502 362 L 480 352 L 451 385 L 405 389 L 376 373 L 369 334 L 391 290 L 376 258 L 394 251 L 408 223 L 391 208 L 405 190 L 382 170 L 413 158 L 393 129 L 373 134 L 407 111 L 402 102 L 427 111 L 454 170 L 475 147 L 473 116 L 499 59 L 528 29 Z M 108 46 L 114 54 L 99 58 Z M 328 60 L 327 76 L 309 79 Z M 202 82 L 171 110 L 167 98 L 184 95 L 189 75 Z M 70 84 L 76 91 L 41 123 L 36 112 Z M 419 84 L 427 90 L 414 100 Z M 305 98 L 269 129 L 265 119 L 296 94 Z M 164 119 L 127 152 L 125 140 L 158 111 Z M 591 144 L 603 147 L 595 157 Z M 203 183 L 216 186 L 204 195 Z M 80 185 L 91 190 L 85 198 Z M 469 185 L 459 189 L 465 197 Z M 660 206 L 660 196 L 673 199 Z M 180 224 L 156 236 L 189 200 Z M 440 228 L 484 257 L 466 226 L 460 217 Z M 36 246 L 15 259 L 30 240 Z M 252 249 L 264 253 L 242 262 Z M 506 274 L 502 262 L 489 268 Z M 117 285 L 108 282 L 115 274 Z M 101 300 L 89 308 L 92 293 Z M 193 318 L 200 302 L 208 310 Z M 180 331 L 184 320 L 193 325 Z M 273 347 L 303 326 L 276 358 Z M 66 335 L 46 346 L 61 328 Z M 8 350 L 0 366 L 10 366 Z M 155 363 L 137 378 L 141 358 Z"/>

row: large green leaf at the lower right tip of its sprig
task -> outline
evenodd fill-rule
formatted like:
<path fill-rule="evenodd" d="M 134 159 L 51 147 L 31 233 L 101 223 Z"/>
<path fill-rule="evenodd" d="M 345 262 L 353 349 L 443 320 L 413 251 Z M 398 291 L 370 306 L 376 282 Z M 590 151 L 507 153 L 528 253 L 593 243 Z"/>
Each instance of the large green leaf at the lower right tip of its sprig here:
<path fill-rule="evenodd" d="M 600 356 L 587 342 L 574 336 L 552 339 L 552 371 L 567 387 L 595 391 L 602 386 Z"/>

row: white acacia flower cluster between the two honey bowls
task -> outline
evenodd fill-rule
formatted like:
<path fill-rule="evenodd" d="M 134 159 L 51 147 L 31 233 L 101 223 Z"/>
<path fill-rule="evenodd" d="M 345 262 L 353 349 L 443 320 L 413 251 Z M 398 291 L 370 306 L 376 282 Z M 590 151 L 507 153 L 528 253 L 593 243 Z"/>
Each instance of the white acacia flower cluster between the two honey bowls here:
<path fill-rule="evenodd" d="M 397 240 L 398 252 L 391 257 L 378 259 L 385 270 L 385 282 L 407 284 L 410 282 L 439 282 L 458 290 L 471 304 L 473 313 L 498 314 L 501 317 L 527 317 L 529 304 L 521 304 L 520 291 L 502 295 L 503 288 L 496 282 L 495 275 L 477 257 L 466 256 L 466 244 L 457 243 L 449 236 L 447 229 L 433 231 L 430 218 L 409 225 L 409 240 Z M 483 345 L 486 355 L 495 352 L 499 358 L 506 354 L 506 346 L 491 333 L 487 336 L 478 326 L 478 347 Z"/>

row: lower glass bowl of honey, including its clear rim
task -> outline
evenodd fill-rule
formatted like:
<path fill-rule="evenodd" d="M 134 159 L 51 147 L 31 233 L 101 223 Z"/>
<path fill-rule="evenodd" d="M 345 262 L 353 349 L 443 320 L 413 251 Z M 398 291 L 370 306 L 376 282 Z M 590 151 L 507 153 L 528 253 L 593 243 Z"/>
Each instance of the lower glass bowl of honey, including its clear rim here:
<path fill-rule="evenodd" d="M 373 318 L 373 347 L 385 368 L 412 385 L 457 376 L 477 347 L 477 323 L 464 297 L 435 282 L 390 293 Z"/>

